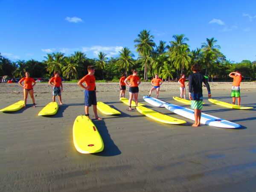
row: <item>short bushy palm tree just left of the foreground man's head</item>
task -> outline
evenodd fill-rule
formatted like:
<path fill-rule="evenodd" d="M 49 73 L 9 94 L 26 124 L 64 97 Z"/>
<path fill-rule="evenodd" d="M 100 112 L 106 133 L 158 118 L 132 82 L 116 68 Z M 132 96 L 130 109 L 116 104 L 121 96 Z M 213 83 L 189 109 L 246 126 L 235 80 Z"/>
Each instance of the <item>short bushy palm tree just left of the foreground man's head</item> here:
<path fill-rule="evenodd" d="M 65 58 L 66 66 L 62 68 L 63 76 L 67 79 L 78 79 L 78 71 L 77 67 L 79 64 L 75 57 L 67 57 Z"/>

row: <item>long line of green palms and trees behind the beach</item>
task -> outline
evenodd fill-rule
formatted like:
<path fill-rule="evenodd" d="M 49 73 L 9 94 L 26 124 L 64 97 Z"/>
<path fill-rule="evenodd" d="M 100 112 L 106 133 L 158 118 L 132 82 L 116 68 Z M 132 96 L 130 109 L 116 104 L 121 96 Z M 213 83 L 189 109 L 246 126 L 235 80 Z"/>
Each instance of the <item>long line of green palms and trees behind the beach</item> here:
<path fill-rule="evenodd" d="M 256 78 L 256 61 L 243 60 L 234 63 L 227 60 L 217 45 L 217 40 L 207 38 L 201 48 L 189 49 L 189 39 L 185 35 L 173 35 L 173 41 L 167 44 L 160 41 L 157 45 L 150 31 L 143 30 L 134 40 L 134 47 L 138 57 L 134 58 L 128 47 L 123 47 L 116 58 L 107 58 L 104 52 L 98 53 L 98 58 L 87 58 L 84 52 L 74 52 L 65 56 L 61 52 L 47 54 L 43 61 L 18 60 L 13 62 L 0 54 L 0 76 L 21 78 L 28 71 L 31 77 L 49 78 L 54 71 L 67 80 L 81 79 L 87 74 L 87 66 L 96 67 L 97 80 L 118 80 L 122 73 L 131 74 L 136 69 L 141 79 L 148 80 L 158 74 L 165 81 L 179 79 L 180 74 L 188 76 L 193 64 L 200 64 L 205 76 L 213 79 L 227 80 L 232 71 L 239 71 L 242 76 L 250 81 Z"/>

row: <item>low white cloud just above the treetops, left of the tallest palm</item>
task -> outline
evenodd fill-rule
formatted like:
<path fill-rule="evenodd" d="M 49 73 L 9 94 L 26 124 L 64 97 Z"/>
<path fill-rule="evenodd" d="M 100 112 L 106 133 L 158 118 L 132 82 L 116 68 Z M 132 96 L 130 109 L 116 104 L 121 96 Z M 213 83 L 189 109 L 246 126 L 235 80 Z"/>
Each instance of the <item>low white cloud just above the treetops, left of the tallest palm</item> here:
<path fill-rule="evenodd" d="M 93 46 L 93 47 L 82 47 L 82 51 L 83 52 L 92 51 L 94 56 L 98 56 L 98 53 L 102 51 L 105 54 L 107 54 L 107 57 L 113 57 L 115 55 L 118 55 L 119 51 L 122 48 L 123 47 L 120 47 L 120 46 L 116 46 L 116 47 Z"/>

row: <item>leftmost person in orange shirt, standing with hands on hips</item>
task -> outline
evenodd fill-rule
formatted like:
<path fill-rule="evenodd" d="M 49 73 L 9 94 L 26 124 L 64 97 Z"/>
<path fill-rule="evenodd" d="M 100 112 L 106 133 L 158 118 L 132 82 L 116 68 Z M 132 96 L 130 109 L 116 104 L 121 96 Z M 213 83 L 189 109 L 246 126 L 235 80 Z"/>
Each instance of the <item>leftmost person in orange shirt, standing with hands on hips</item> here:
<path fill-rule="evenodd" d="M 29 72 L 26 72 L 25 76 L 26 77 L 23 77 L 19 81 L 19 84 L 23 87 L 24 106 L 26 107 L 26 100 L 27 100 L 28 94 L 29 94 L 32 99 L 32 102 L 33 102 L 33 107 L 35 108 L 35 98 L 34 98 L 34 90 L 33 90 L 33 87 L 35 86 L 35 79 L 30 77 Z M 23 81 L 24 81 L 24 84 L 22 84 Z M 32 84 L 32 83 L 34 83 L 34 84 Z"/>

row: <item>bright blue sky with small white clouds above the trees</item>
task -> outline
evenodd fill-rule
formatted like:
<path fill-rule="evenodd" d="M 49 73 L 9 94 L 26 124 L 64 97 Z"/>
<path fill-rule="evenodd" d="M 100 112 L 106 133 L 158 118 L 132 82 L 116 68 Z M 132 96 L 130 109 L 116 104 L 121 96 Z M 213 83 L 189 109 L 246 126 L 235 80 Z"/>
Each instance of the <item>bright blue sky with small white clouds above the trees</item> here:
<path fill-rule="evenodd" d="M 0 0 L 0 8 L 0 52 L 12 61 L 75 51 L 115 58 L 122 47 L 136 55 L 143 29 L 157 45 L 184 34 L 192 50 L 214 37 L 227 60 L 256 60 L 256 0 Z"/>

